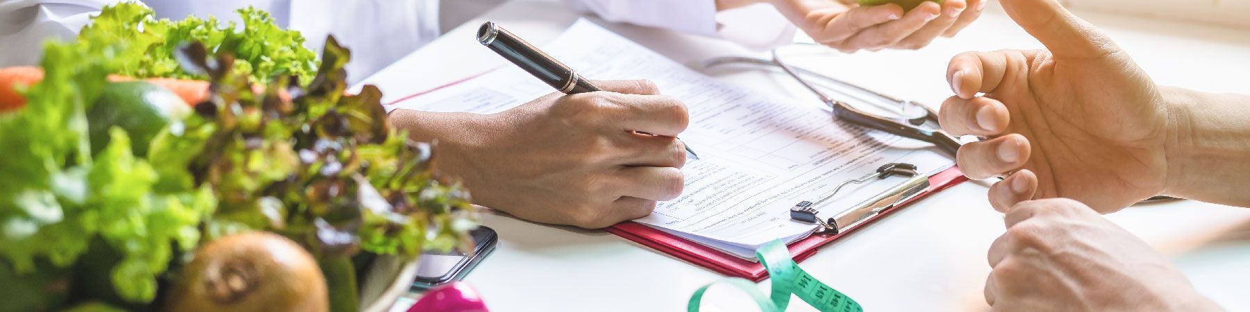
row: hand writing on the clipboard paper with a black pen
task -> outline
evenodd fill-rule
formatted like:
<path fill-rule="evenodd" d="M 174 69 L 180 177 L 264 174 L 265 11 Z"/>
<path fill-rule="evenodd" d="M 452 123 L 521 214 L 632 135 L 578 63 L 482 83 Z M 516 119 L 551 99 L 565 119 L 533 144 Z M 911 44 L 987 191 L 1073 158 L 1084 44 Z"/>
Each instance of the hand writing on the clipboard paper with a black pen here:
<path fill-rule="evenodd" d="M 504 34 L 488 42 L 511 37 Z M 415 140 L 439 140 L 435 166 L 460 177 L 474 203 L 520 218 L 599 228 L 681 195 L 688 154 L 676 135 L 689 122 L 685 105 L 649 81 L 591 84 L 571 70 L 539 72 L 571 95 L 552 92 L 492 115 L 396 110 L 390 119 Z"/>

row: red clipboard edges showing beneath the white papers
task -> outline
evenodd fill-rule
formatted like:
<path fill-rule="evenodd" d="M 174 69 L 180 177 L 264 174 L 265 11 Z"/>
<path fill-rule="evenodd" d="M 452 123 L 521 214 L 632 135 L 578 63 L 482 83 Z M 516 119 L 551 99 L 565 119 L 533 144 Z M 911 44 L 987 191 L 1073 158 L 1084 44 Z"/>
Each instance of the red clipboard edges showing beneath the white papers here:
<path fill-rule="evenodd" d="M 790 250 L 790 256 L 794 257 L 795 262 L 804 261 L 808 257 L 811 257 L 811 255 L 815 255 L 816 248 L 819 248 L 820 246 L 825 246 L 826 243 L 830 243 L 838 238 L 854 233 L 859 228 L 864 228 L 868 225 L 871 225 L 879 220 L 885 218 L 886 216 L 894 213 L 895 211 L 905 208 L 916 200 L 926 197 L 934 192 L 945 190 L 946 187 L 958 185 L 959 182 L 962 181 L 968 181 L 968 177 L 964 177 L 964 172 L 960 172 L 959 167 L 951 167 L 944 170 L 929 177 L 929 190 L 925 190 L 920 195 L 912 196 L 911 198 L 904 201 L 900 205 L 881 211 L 880 213 L 864 221 L 864 223 L 859 226 L 851 227 L 848 231 L 842 231 L 836 235 L 812 235 L 809 236 L 808 238 L 802 238 L 799 240 L 798 242 L 790 243 L 786 247 Z M 741 277 L 756 282 L 764 281 L 764 278 L 768 277 L 768 272 L 764 271 L 764 265 L 760 265 L 759 262 L 739 258 L 732 255 L 725 253 L 722 251 L 718 251 L 715 248 L 700 245 L 698 242 L 692 242 L 686 238 L 678 237 L 675 235 L 670 235 L 668 232 L 634 221 L 616 223 L 615 226 L 611 226 L 606 230 L 608 232 L 611 232 L 616 236 L 625 237 L 625 240 L 630 240 L 642 246 L 651 247 L 656 251 L 669 253 L 674 257 L 678 257 L 680 260 L 684 260 L 686 262 L 701 267 L 706 267 L 708 270 L 716 271 L 718 273 L 725 276 Z"/>

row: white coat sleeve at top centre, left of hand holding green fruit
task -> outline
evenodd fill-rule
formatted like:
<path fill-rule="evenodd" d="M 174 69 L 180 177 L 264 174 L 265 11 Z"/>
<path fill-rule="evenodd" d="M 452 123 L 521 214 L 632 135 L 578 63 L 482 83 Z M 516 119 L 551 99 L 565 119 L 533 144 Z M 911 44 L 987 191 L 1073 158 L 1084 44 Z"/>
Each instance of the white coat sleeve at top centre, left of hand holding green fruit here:
<path fill-rule="evenodd" d="M 795 27 L 769 4 L 716 11 L 716 0 L 564 0 L 580 12 L 612 22 L 722 37 L 751 49 L 794 40 Z"/>

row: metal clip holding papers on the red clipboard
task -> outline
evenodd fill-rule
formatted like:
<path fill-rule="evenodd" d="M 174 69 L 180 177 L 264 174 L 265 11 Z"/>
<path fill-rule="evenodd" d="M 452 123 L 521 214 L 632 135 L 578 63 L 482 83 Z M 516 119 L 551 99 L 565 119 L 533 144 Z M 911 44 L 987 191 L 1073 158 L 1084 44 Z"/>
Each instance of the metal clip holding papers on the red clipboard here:
<path fill-rule="evenodd" d="M 886 190 L 885 192 L 872 196 L 872 198 L 868 198 L 866 201 L 860 202 L 859 205 L 855 205 L 851 208 L 842 211 L 841 213 L 838 213 L 838 216 L 834 216 L 828 221 L 821 220 L 818 216 L 820 211 L 816 211 L 815 206 L 832 198 L 835 195 L 838 195 L 838 191 L 840 191 L 844 186 L 850 183 L 868 182 L 869 180 L 872 178 L 881 180 L 889 176 L 905 176 L 911 178 L 908 178 L 908 181 L 904 181 L 902 183 L 890 187 L 890 190 Z M 835 187 L 832 192 L 816 200 L 815 202 L 801 201 L 794 205 L 794 207 L 790 208 L 790 220 L 804 223 L 820 225 L 821 228 L 816 230 L 816 233 L 836 235 L 839 232 L 859 226 L 860 223 L 872 218 L 881 211 L 892 208 L 900 202 L 904 202 L 911 197 L 915 197 L 916 195 L 920 195 L 925 190 L 929 190 L 929 177 L 918 173 L 915 165 L 901 163 L 901 162 L 886 163 L 882 165 L 881 167 L 878 167 L 876 172 L 869 173 L 856 180 L 844 181 L 842 183 L 838 185 L 838 187 Z"/>

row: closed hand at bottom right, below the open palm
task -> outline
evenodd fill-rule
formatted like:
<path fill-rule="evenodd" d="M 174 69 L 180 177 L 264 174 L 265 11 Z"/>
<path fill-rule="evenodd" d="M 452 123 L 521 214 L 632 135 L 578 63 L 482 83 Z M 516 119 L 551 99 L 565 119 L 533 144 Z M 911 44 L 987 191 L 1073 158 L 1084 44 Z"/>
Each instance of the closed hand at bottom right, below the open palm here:
<path fill-rule="evenodd" d="M 992 311 L 1220 311 L 1168 258 L 1084 203 L 1020 202 L 990 246 Z"/>

